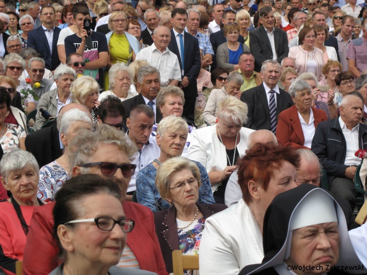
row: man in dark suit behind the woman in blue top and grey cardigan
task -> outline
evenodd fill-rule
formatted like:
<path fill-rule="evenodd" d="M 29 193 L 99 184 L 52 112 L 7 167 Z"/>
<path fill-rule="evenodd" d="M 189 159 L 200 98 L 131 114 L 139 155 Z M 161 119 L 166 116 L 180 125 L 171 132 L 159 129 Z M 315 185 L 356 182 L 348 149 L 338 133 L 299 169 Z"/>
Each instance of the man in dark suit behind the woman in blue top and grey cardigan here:
<path fill-rule="evenodd" d="M 223 12 L 222 15 L 222 23 L 223 25 L 226 25 L 228 22 L 233 23 L 236 21 L 236 13 L 232 10 L 227 10 L 225 12 Z M 243 36 L 241 36 L 241 34 L 238 36 L 238 42 L 240 43 L 245 43 L 245 40 L 243 38 Z M 218 32 L 212 33 L 210 34 L 210 43 L 211 46 L 213 47 L 213 51 L 214 51 L 214 55 L 213 55 L 213 63 L 211 65 L 211 71 L 213 71 L 216 67 L 217 67 L 217 60 L 216 60 L 216 56 L 217 56 L 217 48 L 219 45 L 223 44 L 227 42 L 227 38 L 224 36 L 224 29 L 221 28 L 221 30 L 219 30 Z"/>

